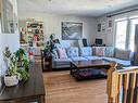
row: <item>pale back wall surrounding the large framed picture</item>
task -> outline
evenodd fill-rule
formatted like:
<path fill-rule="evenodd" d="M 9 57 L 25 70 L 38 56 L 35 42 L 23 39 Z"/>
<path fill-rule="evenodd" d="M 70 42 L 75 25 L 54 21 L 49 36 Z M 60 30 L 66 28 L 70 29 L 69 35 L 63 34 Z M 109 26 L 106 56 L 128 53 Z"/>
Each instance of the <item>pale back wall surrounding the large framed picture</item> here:
<path fill-rule="evenodd" d="M 20 13 L 20 21 L 26 18 L 35 18 L 36 21 L 42 21 L 45 24 L 45 37 L 48 38 L 51 34 L 55 34 L 57 38 L 61 39 L 61 22 L 75 22 L 83 23 L 83 38 L 87 38 L 91 44 L 95 41 L 95 35 L 97 34 L 97 21 L 91 17 L 71 16 L 71 15 L 54 15 L 46 13 Z M 64 40 L 65 46 L 76 46 L 75 40 Z"/>

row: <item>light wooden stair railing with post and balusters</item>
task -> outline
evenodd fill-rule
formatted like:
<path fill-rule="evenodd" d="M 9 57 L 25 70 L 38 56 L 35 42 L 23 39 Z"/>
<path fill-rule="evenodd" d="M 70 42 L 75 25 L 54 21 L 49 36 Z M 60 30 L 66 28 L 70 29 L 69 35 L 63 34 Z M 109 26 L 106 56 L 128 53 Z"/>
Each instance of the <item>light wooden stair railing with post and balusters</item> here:
<path fill-rule="evenodd" d="M 112 62 L 108 72 L 108 103 L 138 103 L 138 67 L 118 70 L 116 66 Z"/>

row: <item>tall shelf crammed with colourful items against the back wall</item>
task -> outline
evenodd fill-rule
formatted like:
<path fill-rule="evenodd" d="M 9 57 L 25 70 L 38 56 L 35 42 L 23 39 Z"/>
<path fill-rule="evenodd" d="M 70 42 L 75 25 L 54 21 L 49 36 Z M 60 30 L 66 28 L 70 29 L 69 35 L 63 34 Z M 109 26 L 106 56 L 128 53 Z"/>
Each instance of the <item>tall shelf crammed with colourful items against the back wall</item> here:
<path fill-rule="evenodd" d="M 34 49 L 35 51 L 40 51 L 43 48 L 43 22 L 32 21 L 26 22 L 24 27 L 26 34 L 24 35 L 26 44 L 21 44 L 22 47 L 27 47 L 28 50 Z M 39 46 L 40 44 L 40 46 Z"/>

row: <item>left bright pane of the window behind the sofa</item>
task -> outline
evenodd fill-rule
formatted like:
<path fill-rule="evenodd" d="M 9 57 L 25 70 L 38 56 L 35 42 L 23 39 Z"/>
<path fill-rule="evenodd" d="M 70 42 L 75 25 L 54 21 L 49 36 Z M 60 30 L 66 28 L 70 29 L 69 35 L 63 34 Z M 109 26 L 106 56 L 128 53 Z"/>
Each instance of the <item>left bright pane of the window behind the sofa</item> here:
<path fill-rule="evenodd" d="M 126 49 L 127 21 L 116 21 L 115 48 Z"/>

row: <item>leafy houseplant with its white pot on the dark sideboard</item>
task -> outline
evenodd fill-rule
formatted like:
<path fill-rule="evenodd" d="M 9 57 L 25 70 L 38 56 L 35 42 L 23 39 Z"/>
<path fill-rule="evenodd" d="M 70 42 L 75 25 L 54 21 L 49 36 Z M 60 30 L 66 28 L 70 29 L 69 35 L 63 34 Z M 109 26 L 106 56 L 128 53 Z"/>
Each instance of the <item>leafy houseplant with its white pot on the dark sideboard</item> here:
<path fill-rule="evenodd" d="M 18 52 L 18 50 L 17 50 L 17 52 Z M 23 52 L 21 54 L 23 54 Z M 7 62 L 7 65 L 8 65 L 7 75 L 4 76 L 5 86 L 8 86 L 8 87 L 15 86 L 21 80 L 22 81 L 28 80 L 28 78 L 29 78 L 29 73 L 28 73 L 29 62 L 27 61 L 26 57 L 22 59 L 23 67 L 17 66 L 17 61 L 20 57 L 16 56 L 16 52 L 11 53 L 9 48 L 5 48 L 5 50 L 3 51 L 3 57 L 4 57 L 4 61 Z"/>

